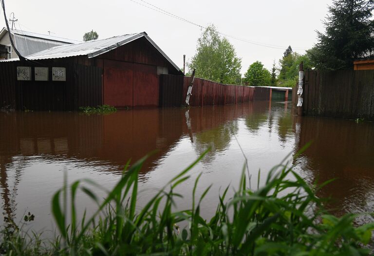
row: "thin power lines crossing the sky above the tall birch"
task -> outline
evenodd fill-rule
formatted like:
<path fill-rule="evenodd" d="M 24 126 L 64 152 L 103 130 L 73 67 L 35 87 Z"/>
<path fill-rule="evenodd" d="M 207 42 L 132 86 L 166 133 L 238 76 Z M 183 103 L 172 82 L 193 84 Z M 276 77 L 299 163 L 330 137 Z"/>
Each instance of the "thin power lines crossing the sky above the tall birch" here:
<path fill-rule="evenodd" d="M 135 0 L 130 0 L 130 1 L 134 2 L 134 3 L 137 3 L 137 4 L 141 5 L 141 6 L 144 6 L 144 7 L 148 8 L 148 9 L 151 9 L 153 11 L 156 11 L 156 12 L 159 12 L 161 14 L 167 15 L 167 16 L 169 16 L 171 18 L 176 18 L 176 19 L 179 19 L 181 21 L 187 22 L 187 23 L 189 23 L 191 25 L 194 25 L 194 26 L 206 29 L 205 26 L 199 25 L 199 24 L 197 24 L 197 23 L 195 23 L 193 21 L 190 21 L 190 20 L 188 20 L 186 18 L 182 18 L 182 17 L 179 17 L 179 16 L 177 16 L 175 14 L 172 14 L 172 13 L 170 13 L 170 12 L 168 12 L 168 11 L 162 9 L 162 8 L 159 8 L 159 7 L 153 5 L 153 4 L 151 4 L 151 3 L 149 3 L 149 2 L 147 2 L 145 0 L 141 0 L 141 1 L 144 2 L 144 3 L 146 3 L 146 4 L 148 4 L 148 5 L 143 4 L 141 2 L 138 2 L 138 1 L 135 1 Z M 280 46 L 280 45 L 274 45 L 274 44 L 261 43 L 261 42 L 256 42 L 256 41 L 244 39 L 244 38 L 241 38 L 241 37 L 232 36 L 232 35 L 225 34 L 225 33 L 219 32 L 219 31 L 217 31 L 217 32 L 218 32 L 218 34 L 223 35 L 224 37 L 230 37 L 230 38 L 233 38 L 233 39 L 236 39 L 236 40 L 239 40 L 239 41 L 242 41 L 242 42 L 250 43 L 250 44 L 253 44 L 253 45 L 258 45 L 258 46 L 268 47 L 268 48 L 273 48 L 273 49 L 285 49 L 285 48 L 287 48 L 287 46 Z M 298 47 L 294 47 L 294 49 L 295 50 L 307 50 L 305 48 L 298 48 Z"/>

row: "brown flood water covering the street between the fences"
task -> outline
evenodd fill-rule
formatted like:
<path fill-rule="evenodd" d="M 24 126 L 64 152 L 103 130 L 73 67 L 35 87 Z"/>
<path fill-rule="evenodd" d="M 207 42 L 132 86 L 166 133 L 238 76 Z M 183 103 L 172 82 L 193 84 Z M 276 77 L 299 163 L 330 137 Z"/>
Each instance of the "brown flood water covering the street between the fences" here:
<path fill-rule="evenodd" d="M 63 185 L 89 178 L 111 188 L 123 166 L 154 149 L 139 176 L 141 207 L 157 189 L 191 164 L 207 148 L 206 157 L 191 170 L 191 180 L 179 190 L 191 205 L 196 178 L 202 173 L 197 194 L 213 187 L 204 200 L 203 216 L 215 211 L 217 195 L 229 183 L 236 187 L 248 159 L 252 184 L 258 170 L 267 171 L 289 153 L 289 160 L 313 141 L 295 169 L 308 182 L 337 178 L 320 197 L 336 215 L 374 210 L 374 123 L 296 117 L 290 102 L 249 102 L 182 109 L 120 110 L 107 115 L 77 112 L 0 112 L 1 212 L 18 223 L 25 212 L 36 216 L 29 227 L 51 231 L 50 202 Z M 99 190 L 99 196 L 104 195 Z M 101 193 L 101 194 L 100 194 Z M 95 209 L 83 195 L 77 205 Z M 0 219 L 2 221 L 3 218 Z M 367 221 L 367 219 L 362 219 Z"/>

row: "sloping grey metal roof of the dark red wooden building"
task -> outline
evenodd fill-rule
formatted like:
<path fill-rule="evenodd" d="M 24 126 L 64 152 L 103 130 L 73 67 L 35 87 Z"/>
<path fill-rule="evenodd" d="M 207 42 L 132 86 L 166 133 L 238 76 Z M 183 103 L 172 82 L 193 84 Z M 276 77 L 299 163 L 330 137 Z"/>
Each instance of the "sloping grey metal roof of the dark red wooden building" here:
<path fill-rule="evenodd" d="M 87 42 L 68 44 L 63 46 L 56 46 L 32 55 L 26 55 L 28 59 L 38 60 L 38 59 L 53 59 L 53 58 L 65 58 L 80 55 L 87 55 L 89 58 L 96 57 L 98 55 L 109 52 L 117 47 L 125 45 L 133 40 L 140 37 L 145 37 L 152 45 L 159 51 L 168 62 L 177 70 L 180 71 L 179 67 L 166 55 L 160 47 L 153 42 L 152 39 L 147 35 L 146 32 L 137 34 L 128 34 L 123 36 L 110 37 L 106 39 L 96 39 Z M 9 59 L 7 61 L 15 61 L 18 59 Z M 5 60 L 6 61 L 6 60 Z"/>

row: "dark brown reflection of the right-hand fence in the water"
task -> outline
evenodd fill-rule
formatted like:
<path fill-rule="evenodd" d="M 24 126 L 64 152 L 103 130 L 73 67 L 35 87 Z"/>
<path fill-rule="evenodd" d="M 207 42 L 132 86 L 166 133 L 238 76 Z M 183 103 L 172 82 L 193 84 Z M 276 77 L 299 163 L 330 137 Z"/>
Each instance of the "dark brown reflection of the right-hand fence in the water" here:
<path fill-rule="evenodd" d="M 302 117 L 298 148 L 312 145 L 297 161 L 309 183 L 337 179 L 318 196 L 331 197 L 326 206 L 340 216 L 345 212 L 374 210 L 374 124 L 349 120 Z"/>

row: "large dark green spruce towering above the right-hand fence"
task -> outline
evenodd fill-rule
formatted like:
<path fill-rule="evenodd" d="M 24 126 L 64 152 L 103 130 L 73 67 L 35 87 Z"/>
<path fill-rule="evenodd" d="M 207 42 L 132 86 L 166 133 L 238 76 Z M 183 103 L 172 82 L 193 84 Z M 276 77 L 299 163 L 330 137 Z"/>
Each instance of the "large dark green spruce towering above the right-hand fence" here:
<path fill-rule="evenodd" d="M 333 0 L 318 33 L 318 43 L 308 54 L 319 70 L 352 68 L 353 60 L 374 51 L 373 0 Z"/>

